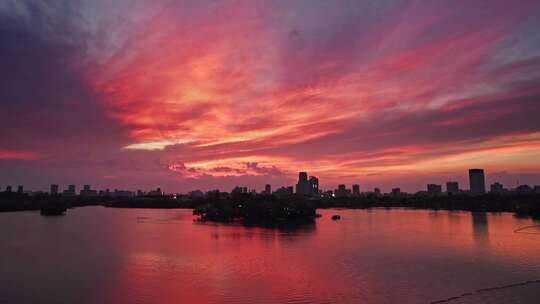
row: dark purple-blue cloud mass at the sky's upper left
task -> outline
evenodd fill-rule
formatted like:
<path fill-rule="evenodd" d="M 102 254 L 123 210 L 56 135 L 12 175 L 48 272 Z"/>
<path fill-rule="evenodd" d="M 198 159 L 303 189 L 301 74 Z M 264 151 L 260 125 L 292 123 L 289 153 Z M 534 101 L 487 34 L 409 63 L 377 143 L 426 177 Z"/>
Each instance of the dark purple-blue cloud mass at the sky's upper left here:
<path fill-rule="evenodd" d="M 87 34 L 70 1 L 17 1 L 0 14 L 2 145 L 39 154 L 122 138 L 85 82 Z"/>

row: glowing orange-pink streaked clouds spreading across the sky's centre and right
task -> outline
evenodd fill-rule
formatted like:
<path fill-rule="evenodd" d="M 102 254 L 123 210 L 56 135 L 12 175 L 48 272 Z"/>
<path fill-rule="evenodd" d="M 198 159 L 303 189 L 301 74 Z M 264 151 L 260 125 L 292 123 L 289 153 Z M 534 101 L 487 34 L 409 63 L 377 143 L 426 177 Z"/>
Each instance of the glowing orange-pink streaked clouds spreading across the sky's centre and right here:
<path fill-rule="evenodd" d="M 540 75 L 493 59 L 508 28 L 474 18 L 450 26 L 458 7 L 436 14 L 413 5 L 362 36 L 303 27 L 274 7 L 218 6 L 148 17 L 92 70 L 109 114 L 129 132 L 124 148 L 163 151 L 168 170 L 189 178 L 257 174 L 247 163 L 329 180 L 469 164 L 521 169 L 538 154 L 540 129 L 515 117 L 539 92 L 515 78 Z M 422 12 L 430 17 L 414 21 Z M 505 20 L 516 29 L 518 21 Z M 466 131 L 497 119 L 511 125 Z"/>

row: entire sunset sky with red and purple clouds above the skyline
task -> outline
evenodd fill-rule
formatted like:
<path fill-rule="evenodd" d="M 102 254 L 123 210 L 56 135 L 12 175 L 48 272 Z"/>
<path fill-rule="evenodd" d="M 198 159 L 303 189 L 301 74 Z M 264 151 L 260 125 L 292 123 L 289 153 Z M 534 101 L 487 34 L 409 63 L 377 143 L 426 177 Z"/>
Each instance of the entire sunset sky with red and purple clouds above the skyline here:
<path fill-rule="evenodd" d="M 0 0 L 0 187 L 540 184 L 540 1 Z"/>

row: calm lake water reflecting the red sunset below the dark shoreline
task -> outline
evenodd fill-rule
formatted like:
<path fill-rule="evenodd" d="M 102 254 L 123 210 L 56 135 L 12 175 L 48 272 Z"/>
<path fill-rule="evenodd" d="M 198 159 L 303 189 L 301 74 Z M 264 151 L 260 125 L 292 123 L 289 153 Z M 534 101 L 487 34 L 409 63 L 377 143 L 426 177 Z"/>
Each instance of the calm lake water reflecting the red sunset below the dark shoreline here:
<path fill-rule="evenodd" d="M 540 279 L 540 229 L 511 214 L 319 210 L 284 231 L 190 210 L 0 213 L 0 303 L 430 303 Z M 340 214 L 341 221 L 332 221 Z M 538 303 L 540 283 L 450 303 Z"/>

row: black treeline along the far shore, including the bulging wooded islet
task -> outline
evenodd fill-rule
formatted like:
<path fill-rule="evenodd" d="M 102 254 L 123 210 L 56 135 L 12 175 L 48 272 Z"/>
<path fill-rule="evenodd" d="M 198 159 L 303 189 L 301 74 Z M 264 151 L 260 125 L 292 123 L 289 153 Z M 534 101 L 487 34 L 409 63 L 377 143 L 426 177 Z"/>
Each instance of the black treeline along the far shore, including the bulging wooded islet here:
<path fill-rule="evenodd" d="M 82 196 L 28 196 L 22 193 L 0 192 L 0 212 L 40 210 L 50 205 L 101 205 L 116 208 L 193 208 L 201 218 L 208 220 L 280 221 L 315 216 L 317 208 L 374 208 L 409 207 L 422 209 L 465 210 L 484 212 L 513 212 L 522 216 L 540 218 L 539 194 L 485 194 L 480 196 L 418 196 L 364 195 L 333 198 L 291 195 L 276 197 L 254 193 L 223 196 L 219 192 L 203 197 L 82 197 Z"/>

